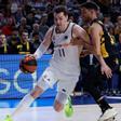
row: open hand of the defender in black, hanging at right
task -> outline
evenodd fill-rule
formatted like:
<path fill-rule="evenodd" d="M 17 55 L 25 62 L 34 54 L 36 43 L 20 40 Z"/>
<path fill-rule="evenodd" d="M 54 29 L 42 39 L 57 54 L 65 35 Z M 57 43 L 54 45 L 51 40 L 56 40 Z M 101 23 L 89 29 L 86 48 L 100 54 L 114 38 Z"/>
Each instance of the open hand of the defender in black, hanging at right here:
<path fill-rule="evenodd" d="M 112 70 L 107 65 L 102 66 L 100 71 L 102 71 L 102 75 L 106 75 L 107 78 L 112 77 Z"/>

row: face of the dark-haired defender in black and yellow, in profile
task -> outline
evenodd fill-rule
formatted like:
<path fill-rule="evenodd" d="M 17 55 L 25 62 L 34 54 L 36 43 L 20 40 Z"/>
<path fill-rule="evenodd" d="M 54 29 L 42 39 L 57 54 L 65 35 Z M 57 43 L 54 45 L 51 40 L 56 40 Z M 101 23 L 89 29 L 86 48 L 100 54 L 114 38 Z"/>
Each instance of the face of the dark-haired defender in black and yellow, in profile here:
<path fill-rule="evenodd" d="M 84 22 L 91 21 L 91 11 L 85 9 L 85 8 L 82 8 L 81 9 L 81 16 L 82 16 Z"/>

